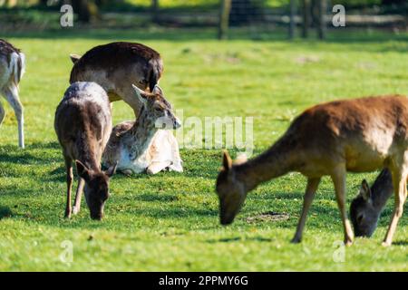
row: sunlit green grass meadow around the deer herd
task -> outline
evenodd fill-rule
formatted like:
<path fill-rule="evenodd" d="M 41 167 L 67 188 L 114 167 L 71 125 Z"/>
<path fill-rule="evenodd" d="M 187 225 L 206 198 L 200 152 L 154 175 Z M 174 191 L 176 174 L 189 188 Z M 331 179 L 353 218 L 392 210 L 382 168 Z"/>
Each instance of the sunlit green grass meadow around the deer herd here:
<path fill-rule="evenodd" d="M 214 194 L 219 150 L 181 150 L 182 174 L 116 175 L 102 222 L 92 221 L 85 205 L 79 216 L 63 219 L 65 174 L 53 113 L 68 86 L 69 53 L 122 39 L 151 45 L 165 62 L 160 85 L 175 107 L 184 110 L 184 117 L 253 116 L 257 153 L 277 140 L 296 114 L 317 102 L 408 94 L 407 34 L 345 31 L 325 43 L 287 42 L 280 36 L 251 41 L 239 34 L 220 43 L 212 40 L 214 34 L 8 35 L 27 57 L 20 90 L 27 146 L 16 147 L 15 116 L 5 105 L 7 116 L 0 128 L 0 270 L 408 270 L 406 213 L 395 245 L 380 246 L 392 202 L 374 237 L 356 239 L 345 249 L 345 262 L 335 263 L 335 243 L 342 241 L 343 231 L 329 179 L 320 185 L 300 245 L 289 243 L 306 185 L 297 173 L 250 192 L 235 223 L 219 226 Z M 114 104 L 113 114 L 114 123 L 132 119 L 121 102 Z M 348 201 L 361 179 L 374 177 L 375 172 L 348 175 Z M 267 211 L 289 218 L 247 222 Z M 59 258 L 65 240 L 73 242 L 70 265 Z"/>

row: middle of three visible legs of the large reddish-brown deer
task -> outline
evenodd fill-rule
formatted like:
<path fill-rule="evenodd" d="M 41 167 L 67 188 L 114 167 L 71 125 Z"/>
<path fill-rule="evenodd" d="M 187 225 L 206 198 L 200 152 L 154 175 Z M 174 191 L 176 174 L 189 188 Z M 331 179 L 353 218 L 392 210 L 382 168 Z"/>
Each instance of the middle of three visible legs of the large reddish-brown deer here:
<path fill-rule="evenodd" d="M 337 206 L 340 210 L 340 215 L 343 221 L 345 246 L 351 246 L 353 244 L 355 234 L 353 233 L 353 229 L 345 209 L 345 174 L 345 166 L 339 166 L 338 169 L 335 169 L 335 172 L 332 175 L 332 180 L 335 184 L 335 198 L 337 200 Z"/>

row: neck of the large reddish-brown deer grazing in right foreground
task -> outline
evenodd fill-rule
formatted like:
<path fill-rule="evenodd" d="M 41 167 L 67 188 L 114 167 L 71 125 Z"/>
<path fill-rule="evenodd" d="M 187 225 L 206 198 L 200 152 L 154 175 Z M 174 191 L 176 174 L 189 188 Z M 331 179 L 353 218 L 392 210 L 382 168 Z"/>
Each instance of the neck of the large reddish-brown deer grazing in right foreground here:
<path fill-rule="evenodd" d="M 275 179 L 296 169 L 296 154 L 292 154 L 295 148 L 291 144 L 293 142 L 287 142 L 287 139 L 283 137 L 256 158 L 235 165 L 236 178 L 242 181 L 249 191 L 262 182 Z"/>

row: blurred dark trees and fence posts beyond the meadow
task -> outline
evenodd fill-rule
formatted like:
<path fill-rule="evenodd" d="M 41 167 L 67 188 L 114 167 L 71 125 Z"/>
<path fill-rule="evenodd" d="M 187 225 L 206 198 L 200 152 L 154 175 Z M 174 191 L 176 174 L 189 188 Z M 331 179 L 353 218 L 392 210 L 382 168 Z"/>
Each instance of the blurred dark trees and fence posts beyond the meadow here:
<path fill-rule="evenodd" d="M 406 0 L 0 0 L 0 31 L 60 28 L 55 12 L 64 4 L 73 5 L 80 25 L 218 27 L 219 38 L 232 26 L 258 35 L 288 27 L 290 38 L 313 30 L 323 39 L 337 4 L 345 6 L 347 26 L 402 31 L 408 23 Z"/>

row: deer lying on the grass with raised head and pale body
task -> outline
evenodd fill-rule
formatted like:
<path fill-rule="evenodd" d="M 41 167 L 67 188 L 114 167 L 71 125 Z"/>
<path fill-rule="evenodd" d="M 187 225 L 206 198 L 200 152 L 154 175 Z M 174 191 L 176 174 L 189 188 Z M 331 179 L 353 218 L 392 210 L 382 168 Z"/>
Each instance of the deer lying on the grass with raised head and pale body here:
<path fill-rule="evenodd" d="M 141 111 L 136 121 L 124 121 L 113 128 L 102 155 L 103 166 L 118 164 L 118 170 L 126 175 L 144 171 L 156 174 L 164 169 L 182 172 L 176 138 L 163 134 L 164 130 L 159 131 L 180 128 L 179 119 L 163 102 L 162 90 L 159 85 L 155 85 L 151 93 L 135 85 L 133 90 L 142 104 Z"/>

